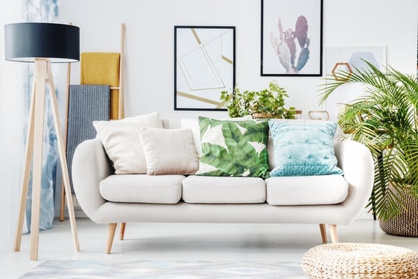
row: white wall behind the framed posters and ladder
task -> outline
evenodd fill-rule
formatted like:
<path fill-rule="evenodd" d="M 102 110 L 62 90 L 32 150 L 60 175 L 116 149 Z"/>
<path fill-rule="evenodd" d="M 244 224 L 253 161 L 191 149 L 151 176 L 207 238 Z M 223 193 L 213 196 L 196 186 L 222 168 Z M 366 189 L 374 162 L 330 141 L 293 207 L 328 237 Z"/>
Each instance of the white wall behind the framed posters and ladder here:
<path fill-rule="evenodd" d="M 417 0 L 324 0 L 323 46 L 387 46 L 387 63 L 415 73 Z M 259 0 L 71 0 L 59 2 L 59 22 L 80 27 L 82 52 L 118 52 L 120 24 L 126 24 L 125 114 L 158 111 L 164 118 L 226 112 L 173 110 L 173 26 L 236 27 L 236 82 L 240 89 L 263 89 L 277 80 L 287 89 L 287 105 L 317 110 L 321 77 L 260 76 Z M 325 69 L 323 69 L 325 71 Z M 79 63 L 72 83 L 79 82 Z"/>

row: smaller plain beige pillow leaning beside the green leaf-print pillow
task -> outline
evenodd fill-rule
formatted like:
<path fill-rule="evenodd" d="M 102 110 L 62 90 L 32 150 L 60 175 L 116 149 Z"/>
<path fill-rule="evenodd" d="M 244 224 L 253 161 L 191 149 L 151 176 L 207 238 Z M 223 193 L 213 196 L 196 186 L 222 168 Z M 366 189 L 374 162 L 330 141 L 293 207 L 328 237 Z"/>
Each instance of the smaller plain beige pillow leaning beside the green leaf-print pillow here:
<path fill-rule="evenodd" d="M 194 174 L 199 160 L 190 129 L 138 128 L 148 175 Z"/>

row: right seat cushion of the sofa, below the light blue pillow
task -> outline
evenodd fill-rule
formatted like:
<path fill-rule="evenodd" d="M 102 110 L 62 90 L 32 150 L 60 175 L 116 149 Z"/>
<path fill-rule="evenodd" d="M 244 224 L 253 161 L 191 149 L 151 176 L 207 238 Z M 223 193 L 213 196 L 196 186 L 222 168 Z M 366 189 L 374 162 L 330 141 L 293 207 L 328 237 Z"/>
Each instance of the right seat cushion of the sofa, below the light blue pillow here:
<path fill-rule="evenodd" d="M 265 180 L 272 205 L 339 204 L 348 195 L 342 175 L 277 176 Z"/>

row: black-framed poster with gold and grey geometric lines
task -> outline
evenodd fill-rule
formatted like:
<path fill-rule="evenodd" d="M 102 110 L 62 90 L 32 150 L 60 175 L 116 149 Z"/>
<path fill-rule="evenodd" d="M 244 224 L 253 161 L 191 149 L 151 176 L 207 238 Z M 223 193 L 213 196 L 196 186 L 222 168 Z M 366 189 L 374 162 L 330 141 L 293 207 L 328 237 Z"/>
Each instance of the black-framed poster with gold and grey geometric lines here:
<path fill-rule="evenodd" d="M 235 86 L 235 27 L 174 27 L 174 110 L 226 110 Z"/>

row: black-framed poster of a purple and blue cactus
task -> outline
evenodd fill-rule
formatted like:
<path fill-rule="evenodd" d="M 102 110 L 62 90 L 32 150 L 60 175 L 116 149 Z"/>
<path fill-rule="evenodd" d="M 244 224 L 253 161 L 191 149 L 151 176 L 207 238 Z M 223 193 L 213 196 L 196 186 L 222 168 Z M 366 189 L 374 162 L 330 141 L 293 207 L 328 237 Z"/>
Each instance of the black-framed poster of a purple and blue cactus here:
<path fill-rule="evenodd" d="M 323 0 L 261 0 L 261 75 L 321 76 Z"/>

